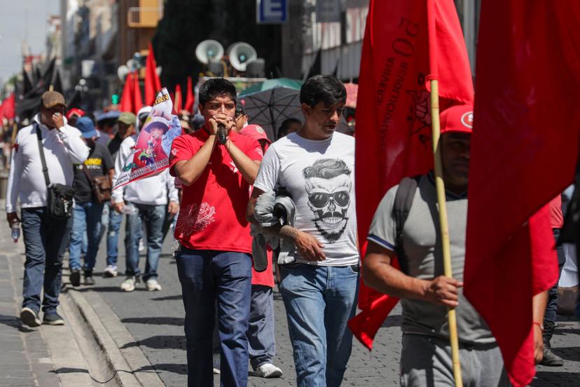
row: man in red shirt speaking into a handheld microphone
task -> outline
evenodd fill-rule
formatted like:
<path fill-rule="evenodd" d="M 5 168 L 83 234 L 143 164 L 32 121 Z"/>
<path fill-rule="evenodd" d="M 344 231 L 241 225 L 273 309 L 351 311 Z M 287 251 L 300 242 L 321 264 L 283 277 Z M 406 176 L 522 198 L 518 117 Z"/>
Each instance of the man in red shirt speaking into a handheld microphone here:
<path fill-rule="evenodd" d="M 251 236 L 245 210 L 263 154 L 256 140 L 232 130 L 235 95 L 226 79 L 203 83 L 205 124 L 177 137 L 171 149 L 170 173 L 183 185 L 175 258 L 186 311 L 188 386 L 213 385 L 216 306 L 221 384 L 247 385 Z"/>

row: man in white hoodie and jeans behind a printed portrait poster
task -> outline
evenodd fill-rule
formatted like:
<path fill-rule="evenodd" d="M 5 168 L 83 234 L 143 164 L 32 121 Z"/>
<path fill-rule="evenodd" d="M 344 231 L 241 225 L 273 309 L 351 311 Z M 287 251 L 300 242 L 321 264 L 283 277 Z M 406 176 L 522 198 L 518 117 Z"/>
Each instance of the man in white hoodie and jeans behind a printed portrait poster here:
<path fill-rule="evenodd" d="M 136 142 L 137 133 L 125 138 L 120 144 L 115 158 L 115 180 L 123 171 L 127 158 L 132 156 L 132 149 Z M 174 182 L 175 179 L 169 175 L 169 170 L 164 170 L 159 175 L 130 182 L 113 191 L 114 210 L 127 214 L 125 224 L 125 276 L 127 278 L 121 284 L 121 289 L 125 292 L 132 292 L 135 285 L 141 282 L 139 240 L 142 236 L 143 223 L 145 223 L 147 240 L 147 262 L 143 280 L 147 290 L 161 290 L 161 285 L 157 280 L 157 264 L 163 246 L 165 213 L 167 211 L 170 215 L 175 215 L 179 210 L 179 197 Z M 170 203 L 167 206 L 168 196 Z M 132 210 L 127 210 L 125 206 Z"/>

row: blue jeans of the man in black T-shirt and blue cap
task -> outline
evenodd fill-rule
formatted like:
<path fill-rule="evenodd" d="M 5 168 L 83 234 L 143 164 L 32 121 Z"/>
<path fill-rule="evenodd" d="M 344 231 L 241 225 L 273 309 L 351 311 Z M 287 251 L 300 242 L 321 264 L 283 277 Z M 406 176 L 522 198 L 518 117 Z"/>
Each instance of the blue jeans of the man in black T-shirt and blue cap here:
<path fill-rule="evenodd" d="M 69 246 L 69 264 L 71 270 L 81 269 L 81 250 L 83 236 L 88 237 L 85 254 L 85 271 L 92 271 L 95 267 L 97 252 L 99 252 L 99 235 L 101 233 L 101 213 L 103 204 L 99 202 L 84 202 L 74 204 L 74 221 Z"/>

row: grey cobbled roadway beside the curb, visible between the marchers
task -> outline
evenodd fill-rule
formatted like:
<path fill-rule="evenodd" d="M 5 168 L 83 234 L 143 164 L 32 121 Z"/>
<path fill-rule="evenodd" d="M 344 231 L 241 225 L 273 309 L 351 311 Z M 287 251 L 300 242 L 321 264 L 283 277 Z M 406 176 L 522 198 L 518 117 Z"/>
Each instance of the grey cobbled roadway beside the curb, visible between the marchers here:
<path fill-rule="evenodd" d="M 124 226 L 122 227 L 124 230 Z M 119 239 L 119 273 L 125 269 L 123 233 Z M 160 292 L 148 292 L 141 285 L 131 293 L 120 291 L 124 276 L 102 278 L 104 269 L 104 241 L 97 257 L 94 287 L 81 286 L 80 292 L 97 292 L 111 306 L 121 322 L 135 339 L 146 358 L 167 386 L 186 385 L 186 341 L 184 337 L 184 308 L 181 303 L 181 287 L 177 278 L 177 268 L 172 257 L 168 236 L 159 262 Z M 140 266 L 144 267 L 145 257 L 141 255 Z M 294 360 L 292 358 L 284 304 L 275 293 L 275 332 L 277 355 L 274 362 L 282 368 L 280 379 L 249 377 L 249 386 L 295 386 Z M 532 386 L 580 386 L 580 323 L 559 316 L 559 325 L 553 337 L 553 347 L 558 355 L 565 358 L 564 367 L 538 367 L 537 378 Z M 399 356 L 401 353 L 401 310 L 395 308 L 385 320 L 375 339 L 372 353 L 357 341 L 352 347 L 352 357 L 348 364 L 343 386 L 399 386 Z M 149 370 L 149 369 L 147 369 Z M 219 377 L 214 379 L 216 385 Z"/>

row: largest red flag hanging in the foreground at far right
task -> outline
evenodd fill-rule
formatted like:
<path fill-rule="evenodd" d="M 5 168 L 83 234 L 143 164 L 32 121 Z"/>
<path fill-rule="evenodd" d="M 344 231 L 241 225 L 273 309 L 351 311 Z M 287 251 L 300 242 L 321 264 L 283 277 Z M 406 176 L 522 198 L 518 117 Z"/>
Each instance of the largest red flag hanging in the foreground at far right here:
<path fill-rule="evenodd" d="M 464 294 L 514 386 L 534 376 L 532 296 L 558 276 L 548 201 L 574 177 L 580 2 L 481 6 Z M 540 321 L 541 322 L 541 321 Z"/>

